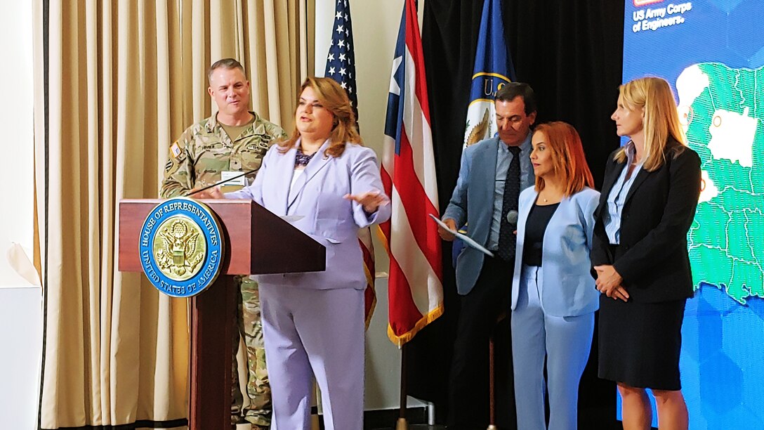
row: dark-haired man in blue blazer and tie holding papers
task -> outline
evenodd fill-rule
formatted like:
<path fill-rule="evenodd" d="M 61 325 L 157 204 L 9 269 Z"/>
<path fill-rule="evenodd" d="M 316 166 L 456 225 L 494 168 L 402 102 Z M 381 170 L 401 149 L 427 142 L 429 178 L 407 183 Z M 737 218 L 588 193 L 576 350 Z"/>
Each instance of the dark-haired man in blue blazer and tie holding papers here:
<path fill-rule="evenodd" d="M 497 91 L 494 106 L 498 136 L 465 149 L 442 217 L 452 230 L 467 223 L 472 239 L 494 252 L 490 257 L 465 246 L 456 259 L 461 312 L 448 384 L 448 425 L 460 429 L 488 424 L 488 340 L 500 315 L 509 318 L 517 203 L 520 191 L 534 183 L 529 159 L 530 127 L 536 121 L 533 89 L 526 83 L 508 83 Z M 444 240 L 454 239 L 447 230 L 439 233 Z M 508 321 L 503 326 L 507 329 L 500 337 L 510 339 Z M 497 353 L 497 368 L 509 363 L 506 374 L 511 378 L 511 353 L 501 355 L 506 357 Z M 497 399 L 499 410 L 510 409 L 497 424 L 514 427 L 511 383 L 497 384 Z"/>

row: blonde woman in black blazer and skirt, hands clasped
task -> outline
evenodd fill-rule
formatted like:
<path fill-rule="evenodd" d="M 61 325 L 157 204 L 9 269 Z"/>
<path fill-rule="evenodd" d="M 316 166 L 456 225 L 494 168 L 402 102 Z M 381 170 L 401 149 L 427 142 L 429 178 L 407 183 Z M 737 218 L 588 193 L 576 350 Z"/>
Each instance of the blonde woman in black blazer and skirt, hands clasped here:
<path fill-rule="evenodd" d="M 693 293 L 687 232 L 701 191 L 701 161 L 685 145 L 669 83 L 620 86 L 611 119 L 631 141 L 613 152 L 594 212 L 591 250 L 600 297 L 599 375 L 617 383 L 623 428 L 688 428 L 679 382 L 681 323 Z"/>

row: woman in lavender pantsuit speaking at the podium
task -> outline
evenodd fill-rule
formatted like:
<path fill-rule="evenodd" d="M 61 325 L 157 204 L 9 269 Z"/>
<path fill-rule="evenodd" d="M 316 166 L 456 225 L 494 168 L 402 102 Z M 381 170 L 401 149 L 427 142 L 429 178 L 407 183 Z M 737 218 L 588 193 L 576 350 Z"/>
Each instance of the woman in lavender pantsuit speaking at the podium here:
<path fill-rule="evenodd" d="M 316 376 L 325 428 L 363 428 L 366 275 L 358 229 L 388 220 L 390 200 L 338 83 L 308 78 L 295 122 L 292 138 L 268 150 L 251 186 L 225 194 L 299 217 L 293 225 L 326 247 L 325 272 L 257 276 L 272 425 L 310 428 Z"/>

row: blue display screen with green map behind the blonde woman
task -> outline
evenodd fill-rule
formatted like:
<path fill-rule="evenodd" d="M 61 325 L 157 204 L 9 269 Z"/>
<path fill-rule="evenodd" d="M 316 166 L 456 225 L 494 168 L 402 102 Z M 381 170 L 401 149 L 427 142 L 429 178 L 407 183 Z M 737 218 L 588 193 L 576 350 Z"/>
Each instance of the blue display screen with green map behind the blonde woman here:
<path fill-rule="evenodd" d="M 623 81 L 668 80 L 701 157 L 680 361 L 690 428 L 764 428 L 764 2 L 626 0 L 625 11 Z"/>

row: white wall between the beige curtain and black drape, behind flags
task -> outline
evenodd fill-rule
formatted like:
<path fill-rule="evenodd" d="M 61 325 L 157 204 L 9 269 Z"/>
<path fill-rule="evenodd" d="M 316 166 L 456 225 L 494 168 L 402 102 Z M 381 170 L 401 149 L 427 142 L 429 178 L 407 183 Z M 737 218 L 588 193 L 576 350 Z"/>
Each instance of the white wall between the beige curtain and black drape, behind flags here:
<path fill-rule="evenodd" d="M 424 2 L 419 2 L 421 10 Z M 390 68 L 403 12 L 403 0 L 350 0 L 358 123 L 364 144 L 381 155 Z M 332 40 L 335 0 L 316 0 L 316 76 L 323 76 Z M 419 14 L 421 16 L 421 13 Z M 421 18 L 420 18 L 421 22 Z M 376 239 L 376 238 L 375 238 Z M 400 350 L 387 339 L 387 268 L 384 247 L 374 242 L 377 265 L 377 308 L 366 334 L 365 408 L 397 409 L 400 404 Z M 422 402 L 409 399 L 409 406 Z"/>

